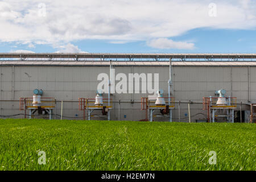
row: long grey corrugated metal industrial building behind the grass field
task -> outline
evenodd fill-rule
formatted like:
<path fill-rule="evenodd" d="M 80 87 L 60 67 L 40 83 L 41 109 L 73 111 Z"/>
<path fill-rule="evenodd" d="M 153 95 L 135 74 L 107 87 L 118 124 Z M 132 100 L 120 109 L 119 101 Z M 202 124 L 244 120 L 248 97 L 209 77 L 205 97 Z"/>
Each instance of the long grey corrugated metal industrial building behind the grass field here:
<path fill-rule="evenodd" d="M 109 105 L 105 113 L 96 110 L 90 119 L 148 120 L 150 115 L 147 106 L 143 109 L 142 98 L 152 93 L 143 90 L 143 80 L 139 80 L 139 90 L 130 88 L 131 80 L 127 80 L 127 93 L 96 93 L 101 82 L 98 76 L 105 73 L 110 77 L 110 65 L 114 78 L 118 73 L 127 79 L 129 73 L 143 73 L 154 80 L 157 73 L 162 90 L 159 96 L 167 98 L 166 105 L 168 98 L 173 98 L 173 107 L 168 107 L 172 122 L 208 121 L 212 113 L 208 113 L 205 98 L 220 97 L 221 89 L 226 90 L 224 104 L 228 97 L 233 98 L 233 122 L 250 122 L 251 112 L 256 113 L 251 109 L 251 104 L 256 103 L 256 54 L 0 53 L 0 117 L 31 118 L 33 110 L 25 112 L 24 98 L 32 98 L 33 90 L 42 89 L 43 97 L 51 100 L 51 107 L 39 110 L 32 118 L 48 118 L 51 114 L 51 119 L 88 119 L 88 110 L 79 105 L 79 98 L 84 98 L 85 104 L 87 98 L 97 95 L 110 97 L 111 108 Z M 163 114 L 169 112 L 163 111 L 165 106 L 161 110 L 161 105 L 152 113 L 152 121 L 170 121 Z M 108 112 L 110 118 L 105 117 Z M 211 121 L 230 122 L 221 117 L 223 114 L 212 116 Z"/>

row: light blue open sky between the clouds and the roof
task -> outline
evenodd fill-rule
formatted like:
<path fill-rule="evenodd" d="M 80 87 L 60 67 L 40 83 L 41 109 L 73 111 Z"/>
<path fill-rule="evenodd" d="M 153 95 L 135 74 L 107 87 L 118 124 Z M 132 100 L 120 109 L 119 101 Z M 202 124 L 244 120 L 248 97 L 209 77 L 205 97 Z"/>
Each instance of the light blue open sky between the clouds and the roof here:
<path fill-rule="evenodd" d="M 148 47 L 144 41 L 123 44 L 113 44 L 109 40 L 80 40 L 71 42 L 86 52 L 117 52 L 117 53 L 255 53 L 255 30 L 213 30 L 199 28 L 186 32 L 184 35 L 172 38 L 175 41 L 192 39 L 195 49 L 156 49 Z M 27 45 L 2 43 L 1 52 L 29 49 L 34 52 L 56 52 L 50 45 L 38 45 L 29 48 Z"/>

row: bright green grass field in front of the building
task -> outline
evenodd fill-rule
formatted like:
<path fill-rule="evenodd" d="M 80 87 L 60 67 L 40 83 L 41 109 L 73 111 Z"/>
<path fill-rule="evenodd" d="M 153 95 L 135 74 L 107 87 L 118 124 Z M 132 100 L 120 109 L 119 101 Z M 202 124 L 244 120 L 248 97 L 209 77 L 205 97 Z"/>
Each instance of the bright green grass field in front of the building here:
<path fill-rule="evenodd" d="M 0 170 L 255 170 L 255 131 L 249 123 L 0 119 Z"/>

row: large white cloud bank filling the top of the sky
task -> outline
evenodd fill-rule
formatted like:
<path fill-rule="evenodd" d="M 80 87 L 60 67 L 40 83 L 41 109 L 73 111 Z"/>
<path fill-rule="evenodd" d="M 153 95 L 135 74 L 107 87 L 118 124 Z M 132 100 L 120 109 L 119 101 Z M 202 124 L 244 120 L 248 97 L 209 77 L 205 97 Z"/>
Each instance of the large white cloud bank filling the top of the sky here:
<path fill-rule="evenodd" d="M 82 39 L 103 39 L 113 43 L 157 40 L 201 27 L 256 27 L 255 1 L 216 0 L 216 17 L 209 16 L 211 2 L 24 0 L 20 3 L 4 0 L 0 2 L 0 42 L 30 42 L 28 47 L 38 43 L 56 47 Z M 39 16 L 40 3 L 46 5 L 46 16 Z M 79 51 L 72 46 L 60 49 Z"/>

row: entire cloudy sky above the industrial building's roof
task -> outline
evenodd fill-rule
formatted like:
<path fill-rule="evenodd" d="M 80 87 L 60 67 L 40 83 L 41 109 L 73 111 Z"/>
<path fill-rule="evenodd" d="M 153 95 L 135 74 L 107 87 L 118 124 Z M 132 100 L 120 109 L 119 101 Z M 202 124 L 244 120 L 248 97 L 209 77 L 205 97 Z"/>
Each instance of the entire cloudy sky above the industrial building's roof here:
<path fill-rule="evenodd" d="M 255 0 L 0 1 L 0 52 L 255 53 Z"/>

